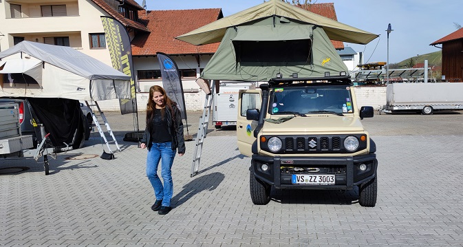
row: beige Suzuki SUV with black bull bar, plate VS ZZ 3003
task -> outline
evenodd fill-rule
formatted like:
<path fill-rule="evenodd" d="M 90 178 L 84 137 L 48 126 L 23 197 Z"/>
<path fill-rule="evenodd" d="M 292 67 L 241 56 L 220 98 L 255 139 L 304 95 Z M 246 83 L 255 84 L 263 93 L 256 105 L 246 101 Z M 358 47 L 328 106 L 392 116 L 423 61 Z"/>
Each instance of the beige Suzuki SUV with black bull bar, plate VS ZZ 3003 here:
<path fill-rule="evenodd" d="M 272 79 L 240 90 L 239 151 L 252 158 L 250 196 L 268 204 L 270 189 L 350 191 L 361 206 L 375 206 L 376 145 L 358 110 L 348 76 Z"/>

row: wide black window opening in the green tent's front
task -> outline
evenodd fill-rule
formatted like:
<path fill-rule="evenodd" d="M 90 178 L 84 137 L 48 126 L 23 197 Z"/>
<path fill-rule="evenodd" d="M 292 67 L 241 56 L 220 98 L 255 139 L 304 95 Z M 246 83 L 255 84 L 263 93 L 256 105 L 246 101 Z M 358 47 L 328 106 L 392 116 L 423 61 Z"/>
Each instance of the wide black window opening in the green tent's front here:
<path fill-rule="evenodd" d="M 310 39 L 289 41 L 233 41 L 237 62 L 288 63 L 310 61 Z"/>

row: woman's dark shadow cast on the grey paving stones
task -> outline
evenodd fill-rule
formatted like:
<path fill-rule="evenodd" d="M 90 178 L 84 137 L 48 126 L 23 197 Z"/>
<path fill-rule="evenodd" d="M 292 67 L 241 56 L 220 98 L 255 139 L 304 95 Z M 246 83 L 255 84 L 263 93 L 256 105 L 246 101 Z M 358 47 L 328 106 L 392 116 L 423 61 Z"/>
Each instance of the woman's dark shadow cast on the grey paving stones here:
<path fill-rule="evenodd" d="M 175 195 L 171 202 L 173 205 L 178 206 L 194 197 L 201 191 L 213 191 L 224 181 L 225 175 L 222 173 L 211 173 L 195 178 L 188 184 L 183 186 L 183 190 Z"/>

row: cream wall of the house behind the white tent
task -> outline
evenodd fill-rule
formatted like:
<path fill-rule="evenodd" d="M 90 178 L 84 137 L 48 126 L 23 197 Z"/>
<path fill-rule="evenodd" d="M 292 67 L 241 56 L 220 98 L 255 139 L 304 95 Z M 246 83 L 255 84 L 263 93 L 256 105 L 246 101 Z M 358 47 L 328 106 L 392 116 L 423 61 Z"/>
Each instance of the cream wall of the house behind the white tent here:
<path fill-rule="evenodd" d="M 21 5 L 22 18 L 11 18 L 10 3 Z M 41 6 L 55 4 L 66 5 L 66 17 L 41 17 Z M 0 51 L 14 45 L 13 36 L 40 43 L 44 37 L 69 36 L 71 47 L 111 65 L 108 49 L 90 49 L 89 34 L 104 32 L 100 16 L 109 14 L 89 0 L 0 1 Z"/>

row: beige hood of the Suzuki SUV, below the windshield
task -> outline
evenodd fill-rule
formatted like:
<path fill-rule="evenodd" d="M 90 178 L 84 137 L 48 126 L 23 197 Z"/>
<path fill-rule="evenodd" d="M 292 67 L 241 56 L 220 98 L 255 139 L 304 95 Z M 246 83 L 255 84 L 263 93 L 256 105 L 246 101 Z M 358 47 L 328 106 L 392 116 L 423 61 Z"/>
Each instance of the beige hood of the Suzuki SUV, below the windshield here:
<path fill-rule="evenodd" d="M 262 133 L 364 131 L 359 118 L 350 116 L 296 116 L 280 123 L 265 122 Z"/>

